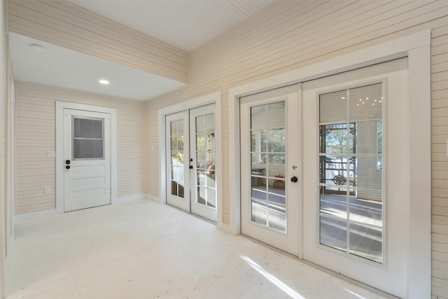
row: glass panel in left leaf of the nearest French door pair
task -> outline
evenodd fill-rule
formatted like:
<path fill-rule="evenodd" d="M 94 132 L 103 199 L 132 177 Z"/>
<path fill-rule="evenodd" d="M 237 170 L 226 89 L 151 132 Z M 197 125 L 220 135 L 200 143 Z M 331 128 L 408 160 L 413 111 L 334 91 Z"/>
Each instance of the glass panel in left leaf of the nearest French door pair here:
<path fill-rule="evenodd" d="M 286 232 L 285 102 L 251 107 L 252 221 Z"/>

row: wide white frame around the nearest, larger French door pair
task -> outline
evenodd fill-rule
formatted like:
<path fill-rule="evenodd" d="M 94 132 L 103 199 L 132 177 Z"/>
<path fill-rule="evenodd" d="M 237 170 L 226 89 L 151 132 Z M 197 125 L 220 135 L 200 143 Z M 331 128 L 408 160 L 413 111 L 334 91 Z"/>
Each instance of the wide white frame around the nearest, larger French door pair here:
<path fill-rule="evenodd" d="M 409 263 L 408 298 L 428 298 L 430 281 L 431 172 L 430 172 L 430 30 L 386 41 L 352 53 L 311 64 L 229 90 L 230 223 L 221 225 L 241 232 L 239 98 L 256 92 L 330 76 L 400 57 L 409 59 Z M 412 146 L 409 146 L 412 145 Z M 416 165 L 412 161 L 423 161 Z"/>

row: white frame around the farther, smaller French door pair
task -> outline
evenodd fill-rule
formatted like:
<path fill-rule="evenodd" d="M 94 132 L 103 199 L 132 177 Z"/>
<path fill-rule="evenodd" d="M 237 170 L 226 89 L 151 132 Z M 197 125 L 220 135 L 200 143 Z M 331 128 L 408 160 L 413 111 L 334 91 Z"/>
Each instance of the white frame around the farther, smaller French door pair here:
<path fill-rule="evenodd" d="M 218 228 L 223 226 L 223 151 L 222 151 L 222 134 L 221 134 L 221 90 L 213 92 L 202 97 L 197 97 L 186 102 L 181 102 L 174 106 L 159 109 L 159 163 L 160 163 L 160 189 L 159 202 L 165 204 L 167 201 L 167 157 L 165 143 L 165 116 L 183 110 L 189 110 L 204 106 L 207 104 L 215 104 L 215 134 L 216 138 L 216 193 L 217 193 L 217 222 Z"/>

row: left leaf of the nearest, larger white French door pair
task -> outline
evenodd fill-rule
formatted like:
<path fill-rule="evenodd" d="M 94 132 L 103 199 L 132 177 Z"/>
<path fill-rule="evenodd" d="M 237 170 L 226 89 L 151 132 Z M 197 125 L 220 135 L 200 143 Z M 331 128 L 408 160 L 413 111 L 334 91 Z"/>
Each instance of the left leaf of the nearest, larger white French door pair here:
<path fill-rule="evenodd" d="M 241 97 L 241 233 L 300 256 L 300 85 Z"/>

